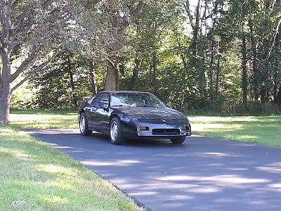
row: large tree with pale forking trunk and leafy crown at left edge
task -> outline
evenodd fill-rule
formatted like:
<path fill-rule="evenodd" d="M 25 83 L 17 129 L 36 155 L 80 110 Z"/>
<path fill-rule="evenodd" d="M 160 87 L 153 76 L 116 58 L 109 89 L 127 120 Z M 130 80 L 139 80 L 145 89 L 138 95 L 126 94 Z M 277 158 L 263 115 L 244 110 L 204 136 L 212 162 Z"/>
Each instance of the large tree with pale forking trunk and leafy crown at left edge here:
<path fill-rule="evenodd" d="M 67 2 L 0 1 L 0 123 L 8 123 L 11 94 L 46 68 L 67 39 Z"/>

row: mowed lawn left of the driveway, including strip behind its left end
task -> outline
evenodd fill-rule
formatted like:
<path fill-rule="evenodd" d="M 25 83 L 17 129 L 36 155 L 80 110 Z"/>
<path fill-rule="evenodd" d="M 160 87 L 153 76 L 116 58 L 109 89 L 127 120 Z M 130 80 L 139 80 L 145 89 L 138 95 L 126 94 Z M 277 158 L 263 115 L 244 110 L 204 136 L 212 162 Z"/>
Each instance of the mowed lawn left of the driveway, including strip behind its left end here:
<path fill-rule="evenodd" d="M 12 113 L 11 124 L 0 125 L 0 210 L 143 210 L 79 162 L 18 131 L 77 127 L 74 113 Z"/>

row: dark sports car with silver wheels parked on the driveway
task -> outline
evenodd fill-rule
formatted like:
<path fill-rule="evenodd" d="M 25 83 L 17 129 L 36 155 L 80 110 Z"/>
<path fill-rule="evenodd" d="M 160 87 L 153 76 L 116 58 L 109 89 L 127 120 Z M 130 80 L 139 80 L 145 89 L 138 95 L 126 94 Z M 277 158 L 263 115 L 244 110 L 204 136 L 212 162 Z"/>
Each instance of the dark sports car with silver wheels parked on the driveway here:
<path fill-rule="evenodd" d="M 105 91 L 85 98 L 79 108 L 79 128 L 83 136 L 93 131 L 109 134 L 114 144 L 140 138 L 180 144 L 191 135 L 185 115 L 140 91 Z"/>

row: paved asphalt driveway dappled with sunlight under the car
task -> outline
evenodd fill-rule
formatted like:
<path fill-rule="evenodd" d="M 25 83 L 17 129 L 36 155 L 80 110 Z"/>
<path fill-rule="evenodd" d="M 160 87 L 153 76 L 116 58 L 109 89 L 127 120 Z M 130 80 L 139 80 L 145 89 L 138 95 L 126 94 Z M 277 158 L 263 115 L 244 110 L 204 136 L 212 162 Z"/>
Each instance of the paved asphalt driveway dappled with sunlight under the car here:
<path fill-rule="evenodd" d="M 30 132 L 151 210 L 281 210 L 281 149 L 192 136 L 131 141 L 77 130 Z M 281 137 L 280 137 L 281 138 Z"/>

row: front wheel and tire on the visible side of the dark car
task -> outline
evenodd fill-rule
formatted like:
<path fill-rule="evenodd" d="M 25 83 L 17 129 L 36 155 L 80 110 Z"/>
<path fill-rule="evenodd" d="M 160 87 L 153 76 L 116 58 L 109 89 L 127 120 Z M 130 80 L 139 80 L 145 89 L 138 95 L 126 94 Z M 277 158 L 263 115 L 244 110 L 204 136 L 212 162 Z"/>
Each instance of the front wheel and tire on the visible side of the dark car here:
<path fill-rule="evenodd" d="M 114 117 L 110 121 L 110 141 L 116 145 L 121 145 L 126 142 L 122 134 L 122 124 L 118 117 Z"/>

